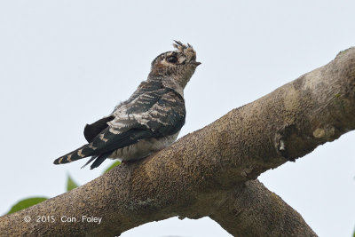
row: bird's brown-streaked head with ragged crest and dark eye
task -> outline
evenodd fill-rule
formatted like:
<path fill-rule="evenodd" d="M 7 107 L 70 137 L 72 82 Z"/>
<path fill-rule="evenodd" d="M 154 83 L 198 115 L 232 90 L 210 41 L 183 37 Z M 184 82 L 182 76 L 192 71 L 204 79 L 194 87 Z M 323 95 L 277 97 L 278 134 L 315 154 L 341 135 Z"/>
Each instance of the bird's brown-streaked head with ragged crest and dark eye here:
<path fill-rule="evenodd" d="M 196 52 L 189 43 L 185 45 L 175 41 L 173 46 L 177 49 L 176 51 L 163 52 L 153 60 L 149 75 L 172 79 L 185 88 L 186 83 L 201 62 L 196 61 Z"/>

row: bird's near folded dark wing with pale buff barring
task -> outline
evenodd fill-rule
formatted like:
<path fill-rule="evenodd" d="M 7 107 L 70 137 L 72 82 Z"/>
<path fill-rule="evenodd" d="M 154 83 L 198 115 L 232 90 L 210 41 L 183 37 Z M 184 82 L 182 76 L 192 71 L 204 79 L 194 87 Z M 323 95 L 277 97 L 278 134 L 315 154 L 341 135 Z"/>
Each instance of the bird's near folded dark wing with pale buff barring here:
<path fill-rule="evenodd" d="M 93 154 L 114 151 L 140 139 L 175 134 L 185 123 L 184 99 L 170 89 L 145 93 L 127 106 L 127 116 L 117 115 L 91 141 L 91 147 L 95 147 Z M 128 122 L 130 125 L 122 126 Z"/>

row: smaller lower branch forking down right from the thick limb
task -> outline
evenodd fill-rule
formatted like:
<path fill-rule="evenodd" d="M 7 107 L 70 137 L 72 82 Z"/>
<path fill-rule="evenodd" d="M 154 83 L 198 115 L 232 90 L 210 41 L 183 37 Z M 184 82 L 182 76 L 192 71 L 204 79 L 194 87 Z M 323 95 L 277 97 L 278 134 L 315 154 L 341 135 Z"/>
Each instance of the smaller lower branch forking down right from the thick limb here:
<path fill-rule="evenodd" d="M 209 217 L 233 236 L 317 236 L 295 209 L 258 180 L 229 193 Z"/>

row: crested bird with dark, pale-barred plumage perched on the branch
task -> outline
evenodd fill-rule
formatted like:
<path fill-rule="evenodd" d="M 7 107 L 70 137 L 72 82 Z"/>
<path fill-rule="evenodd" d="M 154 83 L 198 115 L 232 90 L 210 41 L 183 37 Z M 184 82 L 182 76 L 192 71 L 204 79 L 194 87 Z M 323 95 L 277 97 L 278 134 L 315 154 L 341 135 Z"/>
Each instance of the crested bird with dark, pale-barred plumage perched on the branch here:
<path fill-rule="evenodd" d="M 106 158 L 133 162 L 170 146 L 185 124 L 185 85 L 196 67 L 196 52 L 189 43 L 174 41 L 174 51 L 158 55 L 146 79 L 129 99 L 97 122 L 86 124 L 87 144 L 60 156 L 54 164 L 91 157 L 83 167 L 99 167 Z M 82 168 L 83 168 L 82 167 Z"/>

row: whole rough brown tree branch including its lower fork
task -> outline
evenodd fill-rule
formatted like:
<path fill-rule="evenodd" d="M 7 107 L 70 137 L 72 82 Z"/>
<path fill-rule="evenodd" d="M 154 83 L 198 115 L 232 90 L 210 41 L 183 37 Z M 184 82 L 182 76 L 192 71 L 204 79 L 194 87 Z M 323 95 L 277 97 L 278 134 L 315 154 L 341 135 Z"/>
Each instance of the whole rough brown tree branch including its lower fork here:
<path fill-rule="evenodd" d="M 296 210 L 255 179 L 354 129 L 351 48 L 143 161 L 0 217 L 0 235 L 114 236 L 168 217 L 209 216 L 234 236 L 315 236 Z M 36 222 L 38 216 L 55 221 Z M 64 216 L 76 222 L 62 222 Z M 83 216 L 102 221 L 83 222 Z"/>

